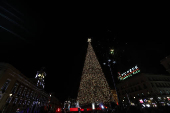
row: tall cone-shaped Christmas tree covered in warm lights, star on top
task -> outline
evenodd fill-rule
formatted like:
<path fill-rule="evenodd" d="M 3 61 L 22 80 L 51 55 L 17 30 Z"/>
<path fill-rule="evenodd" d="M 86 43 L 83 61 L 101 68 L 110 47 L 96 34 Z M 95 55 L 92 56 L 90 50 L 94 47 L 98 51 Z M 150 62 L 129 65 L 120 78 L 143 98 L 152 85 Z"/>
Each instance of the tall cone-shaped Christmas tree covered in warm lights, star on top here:
<path fill-rule="evenodd" d="M 111 101 L 110 88 L 92 48 L 91 39 L 88 39 L 88 42 L 86 59 L 77 96 L 77 101 L 80 106 Z"/>

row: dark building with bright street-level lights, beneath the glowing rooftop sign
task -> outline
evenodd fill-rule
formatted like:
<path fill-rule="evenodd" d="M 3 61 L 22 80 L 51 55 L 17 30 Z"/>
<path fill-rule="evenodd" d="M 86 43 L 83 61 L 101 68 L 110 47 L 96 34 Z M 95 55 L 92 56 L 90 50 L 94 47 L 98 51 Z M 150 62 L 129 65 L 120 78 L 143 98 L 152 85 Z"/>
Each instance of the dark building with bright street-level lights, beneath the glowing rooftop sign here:
<path fill-rule="evenodd" d="M 170 104 L 170 76 L 138 73 L 117 85 L 123 105 L 156 107 Z"/>

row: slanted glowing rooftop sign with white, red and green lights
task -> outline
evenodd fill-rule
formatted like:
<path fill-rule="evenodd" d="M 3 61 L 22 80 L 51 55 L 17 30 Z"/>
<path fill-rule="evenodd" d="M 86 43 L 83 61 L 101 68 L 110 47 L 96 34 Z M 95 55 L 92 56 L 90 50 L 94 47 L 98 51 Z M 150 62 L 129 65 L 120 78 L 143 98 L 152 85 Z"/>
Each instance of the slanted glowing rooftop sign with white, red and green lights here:
<path fill-rule="evenodd" d="M 128 71 L 126 71 L 126 72 L 124 72 L 122 74 L 120 74 L 118 72 L 118 74 L 119 74 L 118 79 L 119 80 L 125 80 L 126 78 L 131 77 L 132 75 L 137 74 L 139 72 L 140 72 L 140 70 L 139 70 L 138 66 L 136 65 L 135 67 L 129 69 Z"/>

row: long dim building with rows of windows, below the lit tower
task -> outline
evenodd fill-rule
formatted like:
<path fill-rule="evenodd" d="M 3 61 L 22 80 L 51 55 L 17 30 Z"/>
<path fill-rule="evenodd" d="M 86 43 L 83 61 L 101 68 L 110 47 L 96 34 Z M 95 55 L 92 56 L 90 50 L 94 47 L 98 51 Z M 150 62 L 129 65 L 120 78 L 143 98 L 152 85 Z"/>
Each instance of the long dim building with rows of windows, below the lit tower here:
<path fill-rule="evenodd" d="M 0 111 L 2 113 L 17 110 L 40 113 L 50 104 L 48 93 L 38 89 L 30 79 L 8 63 L 0 63 L 0 88 Z M 53 100 L 57 104 L 58 100 Z"/>

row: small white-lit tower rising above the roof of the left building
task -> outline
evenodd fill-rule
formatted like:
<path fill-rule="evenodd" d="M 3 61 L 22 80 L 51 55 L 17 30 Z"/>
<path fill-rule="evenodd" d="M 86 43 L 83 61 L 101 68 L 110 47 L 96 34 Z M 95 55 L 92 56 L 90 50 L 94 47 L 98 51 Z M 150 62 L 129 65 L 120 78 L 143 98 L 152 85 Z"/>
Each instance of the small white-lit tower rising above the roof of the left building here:
<path fill-rule="evenodd" d="M 37 79 L 37 87 L 40 89 L 44 89 L 45 87 L 45 83 L 44 83 L 45 76 L 46 73 L 44 72 L 44 68 L 42 68 L 41 71 L 37 71 L 35 78 Z"/>

